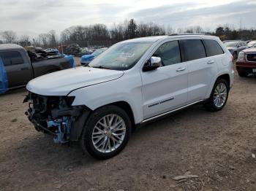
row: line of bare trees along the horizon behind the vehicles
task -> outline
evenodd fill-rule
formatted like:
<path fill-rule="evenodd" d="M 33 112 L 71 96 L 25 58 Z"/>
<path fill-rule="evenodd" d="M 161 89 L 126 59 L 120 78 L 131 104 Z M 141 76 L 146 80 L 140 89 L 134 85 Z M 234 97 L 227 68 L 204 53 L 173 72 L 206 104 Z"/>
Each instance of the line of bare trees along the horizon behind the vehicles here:
<path fill-rule="evenodd" d="M 255 28 L 239 28 L 232 26 L 218 26 L 214 31 L 203 29 L 200 26 L 191 26 L 187 28 L 172 28 L 170 25 L 159 25 L 157 23 L 136 23 L 134 19 L 124 20 L 121 23 L 114 23 L 111 28 L 105 24 L 94 24 L 90 26 L 72 26 L 61 32 L 60 36 L 56 35 L 54 30 L 48 33 L 39 34 L 36 38 L 31 39 L 30 36 L 17 36 L 14 31 L 2 31 L 0 33 L 0 43 L 17 43 L 22 46 L 31 45 L 37 47 L 57 47 L 59 44 L 69 44 L 80 42 L 109 42 L 110 44 L 123 41 L 125 39 L 133 39 L 143 36 L 159 36 L 170 34 L 211 34 L 219 36 L 222 40 L 227 39 L 256 39 Z M 104 44 L 104 43 L 103 43 Z M 84 44 L 83 44 L 84 45 Z M 89 45 L 89 44 L 87 44 Z M 85 46 L 87 46 L 85 45 Z"/>

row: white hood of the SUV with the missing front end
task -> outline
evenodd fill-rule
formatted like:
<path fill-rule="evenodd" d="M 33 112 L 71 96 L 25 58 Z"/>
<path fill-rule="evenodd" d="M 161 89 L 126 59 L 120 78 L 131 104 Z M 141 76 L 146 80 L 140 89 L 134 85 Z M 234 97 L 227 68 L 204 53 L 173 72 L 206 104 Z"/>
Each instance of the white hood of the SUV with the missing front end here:
<path fill-rule="evenodd" d="M 32 79 L 26 89 L 39 95 L 67 95 L 72 90 L 118 79 L 123 74 L 124 71 L 80 66 Z"/>

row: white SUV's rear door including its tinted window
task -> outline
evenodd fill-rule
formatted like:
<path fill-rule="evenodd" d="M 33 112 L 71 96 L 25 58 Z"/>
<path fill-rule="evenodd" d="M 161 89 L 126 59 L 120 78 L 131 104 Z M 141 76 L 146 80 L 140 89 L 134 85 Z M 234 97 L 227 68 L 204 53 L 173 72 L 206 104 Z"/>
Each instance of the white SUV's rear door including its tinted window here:
<path fill-rule="evenodd" d="M 205 98 L 217 74 L 217 63 L 214 57 L 207 58 L 202 39 L 184 39 L 181 45 L 188 69 L 188 102 L 192 103 Z"/>

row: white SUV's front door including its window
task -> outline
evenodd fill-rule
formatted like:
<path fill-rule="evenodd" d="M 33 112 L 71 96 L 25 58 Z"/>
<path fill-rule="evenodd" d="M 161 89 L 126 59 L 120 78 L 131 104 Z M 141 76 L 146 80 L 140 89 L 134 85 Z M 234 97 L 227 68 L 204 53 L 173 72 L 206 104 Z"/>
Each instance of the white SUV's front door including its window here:
<path fill-rule="evenodd" d="M 141 71 L 144 119 L 187 103 L 187 63 L 182 62 L 179 42 L 165 42 L 153 55 L 162 59 L 162 66 Z"/>

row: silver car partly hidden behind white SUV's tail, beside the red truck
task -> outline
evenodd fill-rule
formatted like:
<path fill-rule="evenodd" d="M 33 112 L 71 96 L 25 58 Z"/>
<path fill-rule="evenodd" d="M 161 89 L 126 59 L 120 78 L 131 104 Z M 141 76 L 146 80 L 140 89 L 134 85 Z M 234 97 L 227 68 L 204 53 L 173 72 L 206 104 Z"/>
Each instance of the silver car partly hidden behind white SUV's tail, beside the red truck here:
<path fill-rule="evenodd" d="M 246 48 L 248 48 L 246 42 L 244 41 L 227 41 L 224 43 L 227 47 L 227 50 L 230 51 L 235 59 L 238 58 L 238 54 L 241 50 L 245 50 Z"/>

